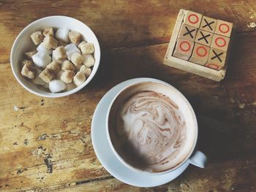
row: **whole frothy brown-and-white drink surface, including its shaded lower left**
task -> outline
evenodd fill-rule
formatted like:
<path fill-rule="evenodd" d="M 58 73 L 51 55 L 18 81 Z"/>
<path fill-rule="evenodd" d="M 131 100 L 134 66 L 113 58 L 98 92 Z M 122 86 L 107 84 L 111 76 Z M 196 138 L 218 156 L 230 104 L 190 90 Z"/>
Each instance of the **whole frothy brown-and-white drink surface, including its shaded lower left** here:
<path fill-rule="evenodd" d="M 180 164 L 187 125 L 178 106 L 155 91 L 138 91 L 112 114 L 111 141 L 117 153 L 137 169 L 163 172 Z"/>

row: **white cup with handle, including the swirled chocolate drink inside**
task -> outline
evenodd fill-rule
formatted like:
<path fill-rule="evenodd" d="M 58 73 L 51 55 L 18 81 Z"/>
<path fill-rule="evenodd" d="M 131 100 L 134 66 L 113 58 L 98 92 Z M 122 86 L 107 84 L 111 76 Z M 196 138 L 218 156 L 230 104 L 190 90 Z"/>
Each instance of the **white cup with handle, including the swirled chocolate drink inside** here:
<path fill-rule="evenodd" d="M 189 101 L 166 82 L 127 85 L 108 107 L 108 142 L 119 161 L 135 172 L 165 174 L 187 161 L 201 168 L 195 150 L 197 119 Z"/>

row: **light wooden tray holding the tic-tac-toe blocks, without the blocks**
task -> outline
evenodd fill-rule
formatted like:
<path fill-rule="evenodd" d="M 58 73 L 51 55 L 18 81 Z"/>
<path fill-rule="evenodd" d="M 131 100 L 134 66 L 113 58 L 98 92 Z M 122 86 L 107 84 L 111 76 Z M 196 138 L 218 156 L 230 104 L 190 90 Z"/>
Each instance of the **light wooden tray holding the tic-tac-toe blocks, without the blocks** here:
<path fill-rule="evenodd" d="M 201 77 L 206 77 L 210 80 L 214 80 L 214 81 L 221 81 L 224 79 L 225 77 L 225 73 L 227 70 L 227 61 L 228 61 L 228 57 L 229 57 L 229 52 L 230 52 L 230 47 L 232 44 L 232 38 L 230 36 L 230 45 L 229 48 L 227 50 L 227 58 L 225 61 L 225 66 L 220 69 L 219 71 L 215 70 L 215 69 L 211 69 L 208 68 L 206 66 L 201 66 L 199 64 L 194 64 L 190 61 L 185 61 L 181 58 L 176 58 L 173 56 L 173 51 L 175 49 L 176 46 L 176 39 L 178 38 L 178 33 L 179 30 L 181 28 L 181 24 L 183 23 L 184 20 L 184 16 L 187 14 L 187 10 L 185 9 L 180 9 L 179 13 L 178 13 L 178 17 L 176 20 L 176 24 L 174 26 L 173 29 L 173 34 L 170 38 L 170 43 L 168 45 L 167 48 L 167 52 L 165 54 L 165 59 L 163 61 L 163 64 L 167 65 L 167 66 L 173 66 L 177 69 L 181 69 L 184 70 L 186 72 L 190 72 L 192 74 L 197 74 Z"/>

